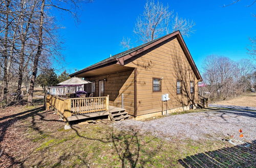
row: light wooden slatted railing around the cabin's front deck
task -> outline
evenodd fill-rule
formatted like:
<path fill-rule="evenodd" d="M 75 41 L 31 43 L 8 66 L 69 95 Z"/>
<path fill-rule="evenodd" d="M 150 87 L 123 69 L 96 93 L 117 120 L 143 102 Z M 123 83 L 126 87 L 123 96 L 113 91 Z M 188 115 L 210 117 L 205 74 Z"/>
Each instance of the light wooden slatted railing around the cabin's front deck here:
<path fill-rule="evenodd" d="M 87 98 L 62 98 L 47 95 L 46 109 L 55 109 L 66 121 L 77 114 L 94 113 L 109 110 L 109 96 Z"/>

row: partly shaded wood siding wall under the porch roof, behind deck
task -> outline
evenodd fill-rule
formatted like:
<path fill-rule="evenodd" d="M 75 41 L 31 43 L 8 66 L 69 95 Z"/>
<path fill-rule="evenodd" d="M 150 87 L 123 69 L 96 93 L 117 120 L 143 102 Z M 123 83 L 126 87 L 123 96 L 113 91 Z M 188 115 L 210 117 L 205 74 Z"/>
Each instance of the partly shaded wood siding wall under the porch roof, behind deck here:
<path fill-rule="evenodd" d="M 99 81 L 104 78 L 106 79 L 104 81 L 104 96 L 110 96 L 109 104 L 121 107 L 121 95 L 123 94 L 124 108 L 127 113 L 134 115 L 134 69 L 87 78 L 90 81 L 95 81 L 94 96 L 99 96 Z"/>

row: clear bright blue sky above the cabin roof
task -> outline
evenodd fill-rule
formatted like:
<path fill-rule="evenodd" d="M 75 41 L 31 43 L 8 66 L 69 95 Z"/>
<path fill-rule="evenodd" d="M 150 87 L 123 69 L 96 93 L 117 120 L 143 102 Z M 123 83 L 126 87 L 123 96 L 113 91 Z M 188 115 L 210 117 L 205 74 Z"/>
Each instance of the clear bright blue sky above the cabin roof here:
<path fill-rule="evenodd" d="M 222 55 L 234 61 L 249 57 L 248 38 L 256 34 L 252 17 L 256 5 L 246 7 L 250 1 L 242 0 L 226 8 L 223 4 L 232 0 L 160 2 L 168 4 L 180 17 L 195 21 L 196 32 L 183 38 L 200 72 L 207 55 Z M 133 29 L 144 4 L 144 0 L 95 0 L 81 7 L 78 23 L 68 13 L 55 11 L 57 23 L 63 27 L 59 34 L 65 42 L 61 50 L 66 60 L 64 68 L 73 73 L 122 52 L 122 38 L 136 38 Z"/>

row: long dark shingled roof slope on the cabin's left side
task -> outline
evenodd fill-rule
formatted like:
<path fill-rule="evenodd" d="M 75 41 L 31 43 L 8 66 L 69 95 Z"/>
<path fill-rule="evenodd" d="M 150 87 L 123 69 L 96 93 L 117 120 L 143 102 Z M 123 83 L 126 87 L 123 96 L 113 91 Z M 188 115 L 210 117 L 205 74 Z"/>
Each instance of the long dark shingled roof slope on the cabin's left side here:
<path fill-rule="evenodd" d="M 174 33 L 174 32 L 173 32 L 173 33 Z M 172 34 L 172 33 L 170 33 L 170 34 Z M 123 57 L 124 55 L 130 54 L 130 53 L 132 53 L 132 52 L 134 52 L 134 51 L 136 51 L 136 50 L 138 50 L 138 49 L 141 49 L 141 48 L 143 48 L 143 47 L 145 47 L 145 46 L 147 46 L 147 45 L 150 45 L 150 44 L 154 43 L 155 41 L 157 41 L 157 40 L 159 40 L 159 39 L 162 39 L 162 38 L 164 38 L 164 37 L 166 37 L 166 36 L 168 36 L 168 35 L 170 35 L 170 34 L 167 34 L 167 35 L 165 35 L 165 36 L 162 36 L 162 37 L 160 37 L 160 38 L 158 38 L 158 39 L 155 39 L 155 40 L 152 40 L 152 41 L 150 41 L 150 42 L 144 43 L 144 44 L 139 45 L 139 46 L 137 46 L 137 47 L 128 49 L 128 50 L 126 50 L 126 51 L 120 52 L 120 53 L 118 53 L 118 54 L 115 54 L 115 55 L 113 55 L 113 56 L 110 57 L 110 58 L 107 58 L 107 59 L 105 59 L 105 60 L 102 60 L 102 61 L 100 61 L 100 62 L 97 62 L 96 64 L 93 64 L 93 65 L 91 65 L 91 66 L 89 66 L 89 67 L 86 67 L 86 68 L 84 68 L 84 69 L 81 69 L 81 70 L 79 70 L 79 71 L 77 71 L 77 72 L 75 72 L 75 73 L 78 73 L 78 72 L 80 72 L 80 71 L 89 69 L 89 68 L 91 68 L 91 67 L 94 67 L 94 66 L 103 64 L 103 63 L 108 62 L 108 61 L 110 61 L 110 60 L 119 59 L 119 58 Z M 72 75 L 72 74 L 71 74 L 71 75 Z"/>

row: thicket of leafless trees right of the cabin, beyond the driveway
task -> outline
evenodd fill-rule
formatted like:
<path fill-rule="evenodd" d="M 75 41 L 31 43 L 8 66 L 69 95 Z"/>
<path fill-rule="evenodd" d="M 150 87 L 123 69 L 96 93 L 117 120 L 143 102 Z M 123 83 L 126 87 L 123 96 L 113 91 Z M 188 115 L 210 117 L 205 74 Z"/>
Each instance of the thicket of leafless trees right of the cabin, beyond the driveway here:
<path fill-rule="evenodd" d="M 240 95 L 253 85 L 253 64 L 249 60 L 234 62 L 226 57 L 208 56 L 204 61 L 204 92 L 211 100 Z"/>

